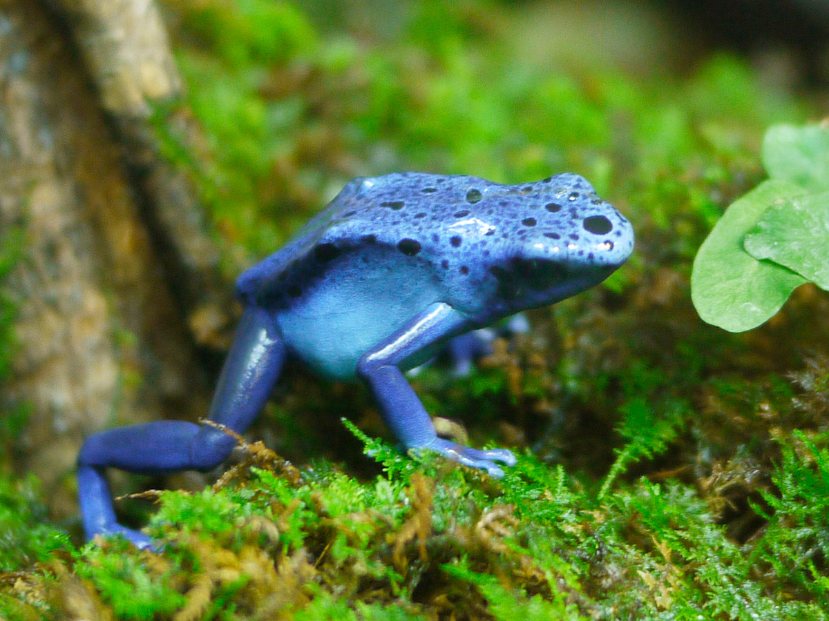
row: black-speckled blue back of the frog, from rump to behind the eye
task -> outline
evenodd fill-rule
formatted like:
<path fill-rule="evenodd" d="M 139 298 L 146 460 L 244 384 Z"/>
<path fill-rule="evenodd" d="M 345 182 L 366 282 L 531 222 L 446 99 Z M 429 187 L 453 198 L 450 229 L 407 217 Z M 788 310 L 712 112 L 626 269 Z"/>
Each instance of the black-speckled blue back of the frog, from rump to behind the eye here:
<path fill-rule="evenodd" d="M 243 273 L 237 289 L 245 301 L 284 306 L 333 259 L 381 247 L 390 250 L 387 260 L 428 263 L 448 290 L 463 296 L 470 282 L 486 276 L 478 273 L 486 259 L 536 220 L 537 234 L 545 224 L 548 237 L 569 233 L 574 216 L 550 213 L 548 205 L 579 191 L 594 196 L 584 178 L 568 173 L 521 185 L 417 172 L 355 179 L 284 248 Z"/>

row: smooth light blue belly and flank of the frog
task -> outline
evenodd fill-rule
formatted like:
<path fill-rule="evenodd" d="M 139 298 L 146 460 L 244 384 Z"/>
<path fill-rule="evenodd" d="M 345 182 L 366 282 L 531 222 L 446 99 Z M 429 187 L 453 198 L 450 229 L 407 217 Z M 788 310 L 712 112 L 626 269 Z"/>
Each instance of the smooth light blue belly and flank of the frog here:
<path fill-rule="evenodd" d="M 323 376 L 353 379 L 366 351 L 440 299 L 425 267 L 332 270 L 277 320 L 288 349 L 303 363 Z"/>

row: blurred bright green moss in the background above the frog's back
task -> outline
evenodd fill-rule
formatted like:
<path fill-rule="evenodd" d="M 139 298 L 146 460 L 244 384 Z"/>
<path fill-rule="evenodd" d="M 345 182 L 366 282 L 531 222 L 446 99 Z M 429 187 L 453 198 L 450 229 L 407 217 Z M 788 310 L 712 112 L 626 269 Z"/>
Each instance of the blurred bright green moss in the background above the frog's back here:
<path fill-rule="evenodd" d="M 366 41 L 320 31 L 289 2 L 182 11 L 178 58 L 203 141 L 168 136 L 167 152 L 230 242 L 262 256 L 352 176 L 401 169 L 518 182 L 566 168 L 640 230 L 710 221 L 706 190 L 758 171 L 756 132 L 803 116 L 727 57 L 682 83 L 634 84 L 518 54 L 497 4 L 418 3 L 398 17 L 394 36 Z M 690 257 L 698 241 L 675 243 Z"/>

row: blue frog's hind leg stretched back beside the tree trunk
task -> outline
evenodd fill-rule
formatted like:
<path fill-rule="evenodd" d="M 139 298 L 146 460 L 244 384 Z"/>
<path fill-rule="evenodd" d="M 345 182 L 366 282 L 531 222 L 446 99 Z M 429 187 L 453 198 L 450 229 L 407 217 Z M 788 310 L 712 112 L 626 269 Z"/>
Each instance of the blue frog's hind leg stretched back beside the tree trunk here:
<path fill-rule="evenodd" d="M 249 307 L 236 330 L 208 417 L 244 432 L 268 400 L 284 359 L 285 346 L 273 315 Z M 140 474 L 208 470 L 221 464 L 234 446 L 235 440 L 223 431 L 186 421 L 155 421 L 90 436 L 78 455 L 78 495 L 86 537 L 120 533 L 136 546 L 151 544 L 143 533 L 116 522 L 106 468 Z"/>

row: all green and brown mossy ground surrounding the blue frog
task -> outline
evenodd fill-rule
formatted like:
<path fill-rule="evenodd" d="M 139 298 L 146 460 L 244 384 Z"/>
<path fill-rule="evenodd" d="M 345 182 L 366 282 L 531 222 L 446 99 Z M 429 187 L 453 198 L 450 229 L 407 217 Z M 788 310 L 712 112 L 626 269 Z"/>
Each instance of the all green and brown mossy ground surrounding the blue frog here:
<path fill-rule="evenodd" d="M 402 4 L 374 29 L 235 6 L 170 7 L 190 90 L 158 113 L 229 276 L 351 177 L 394 170 L 579 172 L 631 219 L 636 253 L 472 377 L 412 380 L 449 431 L 518 447 L 503 481 L 363 437 L 376 466 L 339 421 L 385 433 L 366 392 L 292 371 L 251 435 L 300 469 L 246 445 L 212 488 L 160 493 L 158 554 L 29 537 L 32 484 L 4 484 L 0 614 L 827 619 L 829 300 L 803 287 L 728 335 L 688 291 L 705 234 L 761 178 L 764 129 L 808 103 L 729 57 L 678 77 L 518 54 L 526 5 Z M 178 113 L 203 134 L 170 130 Z"/>

